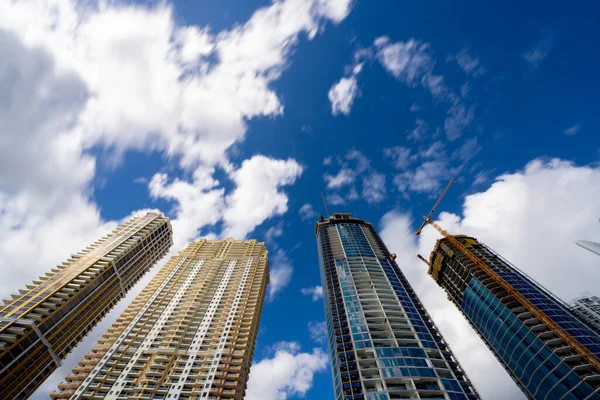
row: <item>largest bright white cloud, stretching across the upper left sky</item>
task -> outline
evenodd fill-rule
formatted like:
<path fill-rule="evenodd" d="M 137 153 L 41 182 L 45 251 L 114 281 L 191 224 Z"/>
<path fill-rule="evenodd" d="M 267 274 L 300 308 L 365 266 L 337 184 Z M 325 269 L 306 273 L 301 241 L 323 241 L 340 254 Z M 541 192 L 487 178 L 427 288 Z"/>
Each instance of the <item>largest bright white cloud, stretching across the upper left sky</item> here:
<path fill-rule="evenodd" d="M 281 113 L 269 84 L 299 35 L 312 38 L 349 10 L 343 0 L 278 1 L 211 34 L 178 26 L 164 3 L 0 5 L 6 29 L 48 49 L 94 93 L 80 121 L 90 145 L 160 148 L 185 167 L 218 163 L 243 138 L 245 119 Z"/>

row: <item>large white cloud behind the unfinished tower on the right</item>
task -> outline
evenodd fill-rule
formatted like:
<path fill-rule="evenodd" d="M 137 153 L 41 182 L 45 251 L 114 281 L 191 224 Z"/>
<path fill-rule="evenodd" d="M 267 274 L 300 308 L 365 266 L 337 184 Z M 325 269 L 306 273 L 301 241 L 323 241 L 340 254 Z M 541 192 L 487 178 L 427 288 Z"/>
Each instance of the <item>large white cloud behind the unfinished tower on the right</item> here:
<path fill-rule="evenodd" d="M 441 213 L 451 233 L 473 235 L 565 300 L 593 290 L 600 280 L 597 256 L 578 248 L 581 237 L 598 238 L 600 168 L 560 160 L 534 160 L 524 170 L 504 174 L 486 191 L 467 196 L 462 217 Z M 532 223 L 535 221 L 535 223 Z M 427 227 L 419 241 L 410 217 L 388 213 L 381 235 L 409 282 L 432 314 L 483 398 L 523 398 L 498 362 L 466 324 L 426 266 L 415 258 L 428 256 L 437 232 Z M 559 226 L 560 229 L 556 227 Z M 566 268 L 565 266 L 568 266 Z M 591 286 L 590 286 L 591 285 Z"/>

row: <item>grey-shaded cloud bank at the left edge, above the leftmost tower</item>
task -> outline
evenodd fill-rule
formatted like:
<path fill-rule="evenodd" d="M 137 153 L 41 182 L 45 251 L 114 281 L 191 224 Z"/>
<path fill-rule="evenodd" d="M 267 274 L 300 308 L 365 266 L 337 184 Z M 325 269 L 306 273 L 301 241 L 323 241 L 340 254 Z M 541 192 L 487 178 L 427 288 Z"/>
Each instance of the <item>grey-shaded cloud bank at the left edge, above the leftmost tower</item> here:
<path fill-rule="evenodd" d="M 8 295 L 85 247 L 104 222 L 85 192 L 95 161 L 69 128 L 88 97 L 51 54 L 0 29 L 0 283 Z"/>

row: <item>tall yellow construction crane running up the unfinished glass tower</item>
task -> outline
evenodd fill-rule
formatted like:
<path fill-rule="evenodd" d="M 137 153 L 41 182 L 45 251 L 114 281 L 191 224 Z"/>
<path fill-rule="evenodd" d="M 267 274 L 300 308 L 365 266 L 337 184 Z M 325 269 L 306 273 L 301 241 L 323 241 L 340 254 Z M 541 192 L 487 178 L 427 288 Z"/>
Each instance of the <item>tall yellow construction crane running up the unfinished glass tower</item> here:
<path fill-rule="evenodd" d="M 454 183 L 454 179 L 450 180 L 448 186 L 444 189 L 432 210 L 429 212 L 427 216 L 423 216 L 425 221 L 419 227 L 416 234 L 419 235 L 423 227 L 427 224 L 433 226 L 443 237 L 448 239 L 452 245 L 456 249 L 458 249 L 461 253 L 463 253 L 469 260 L 471 260 L 476 267 L 484 271 L 490 278 L 492 278 L 500 287 L 502 287 L 506 292 L 512 296 L 516 301 L 518 301 L 527 311 L 529 311 L 534 317 L 536 317 L 540 322 L 546 325 L 556 336 L 561 338 L 569 347 L 575 350 L 583 359 L 585 359 L 590 365 L 592 365 L 596 370 L 600 372 L 600 359 L 596 357 L 591 351 L 589 351 L 584 345 L 579 343 L 577 339 L 571 336 L 567 331 L 561 328 L 554 320 L 548 317 L 542 310 L 536 307 L 531 301 L 525 298 L 517 289 L 515 289 L 511 284 L 506 282 L 504 278 L 498 275 L 490 266 L 481 261 L 479 257 L 473 254 L 469 249 L 467 249 L 458 239 L 456 239 L 453 235 L 446 232 L 440 225 L 433 222 L 431 220 L 431 215 L 433 214 L 435 208 L 440 204 L 442 198 L 448 192 L 450 186 Z M 419 257 L 420 254 L 417 256 Z M 422 261 L 425 261 L 423 257 L 419 257 Z M 427 263 L 429 264 L 429 263 Z"/>

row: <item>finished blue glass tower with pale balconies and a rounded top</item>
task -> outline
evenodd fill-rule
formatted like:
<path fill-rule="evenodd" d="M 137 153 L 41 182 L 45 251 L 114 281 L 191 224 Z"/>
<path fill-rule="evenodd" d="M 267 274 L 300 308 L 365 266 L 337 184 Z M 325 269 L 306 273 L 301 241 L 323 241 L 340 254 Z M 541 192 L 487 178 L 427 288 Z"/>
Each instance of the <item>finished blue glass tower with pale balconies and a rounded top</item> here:
<path fill-rule="evenodd" d="M 477 399 L 373 226 L 336 213 L 316 235 L 335 399 Z"/>

